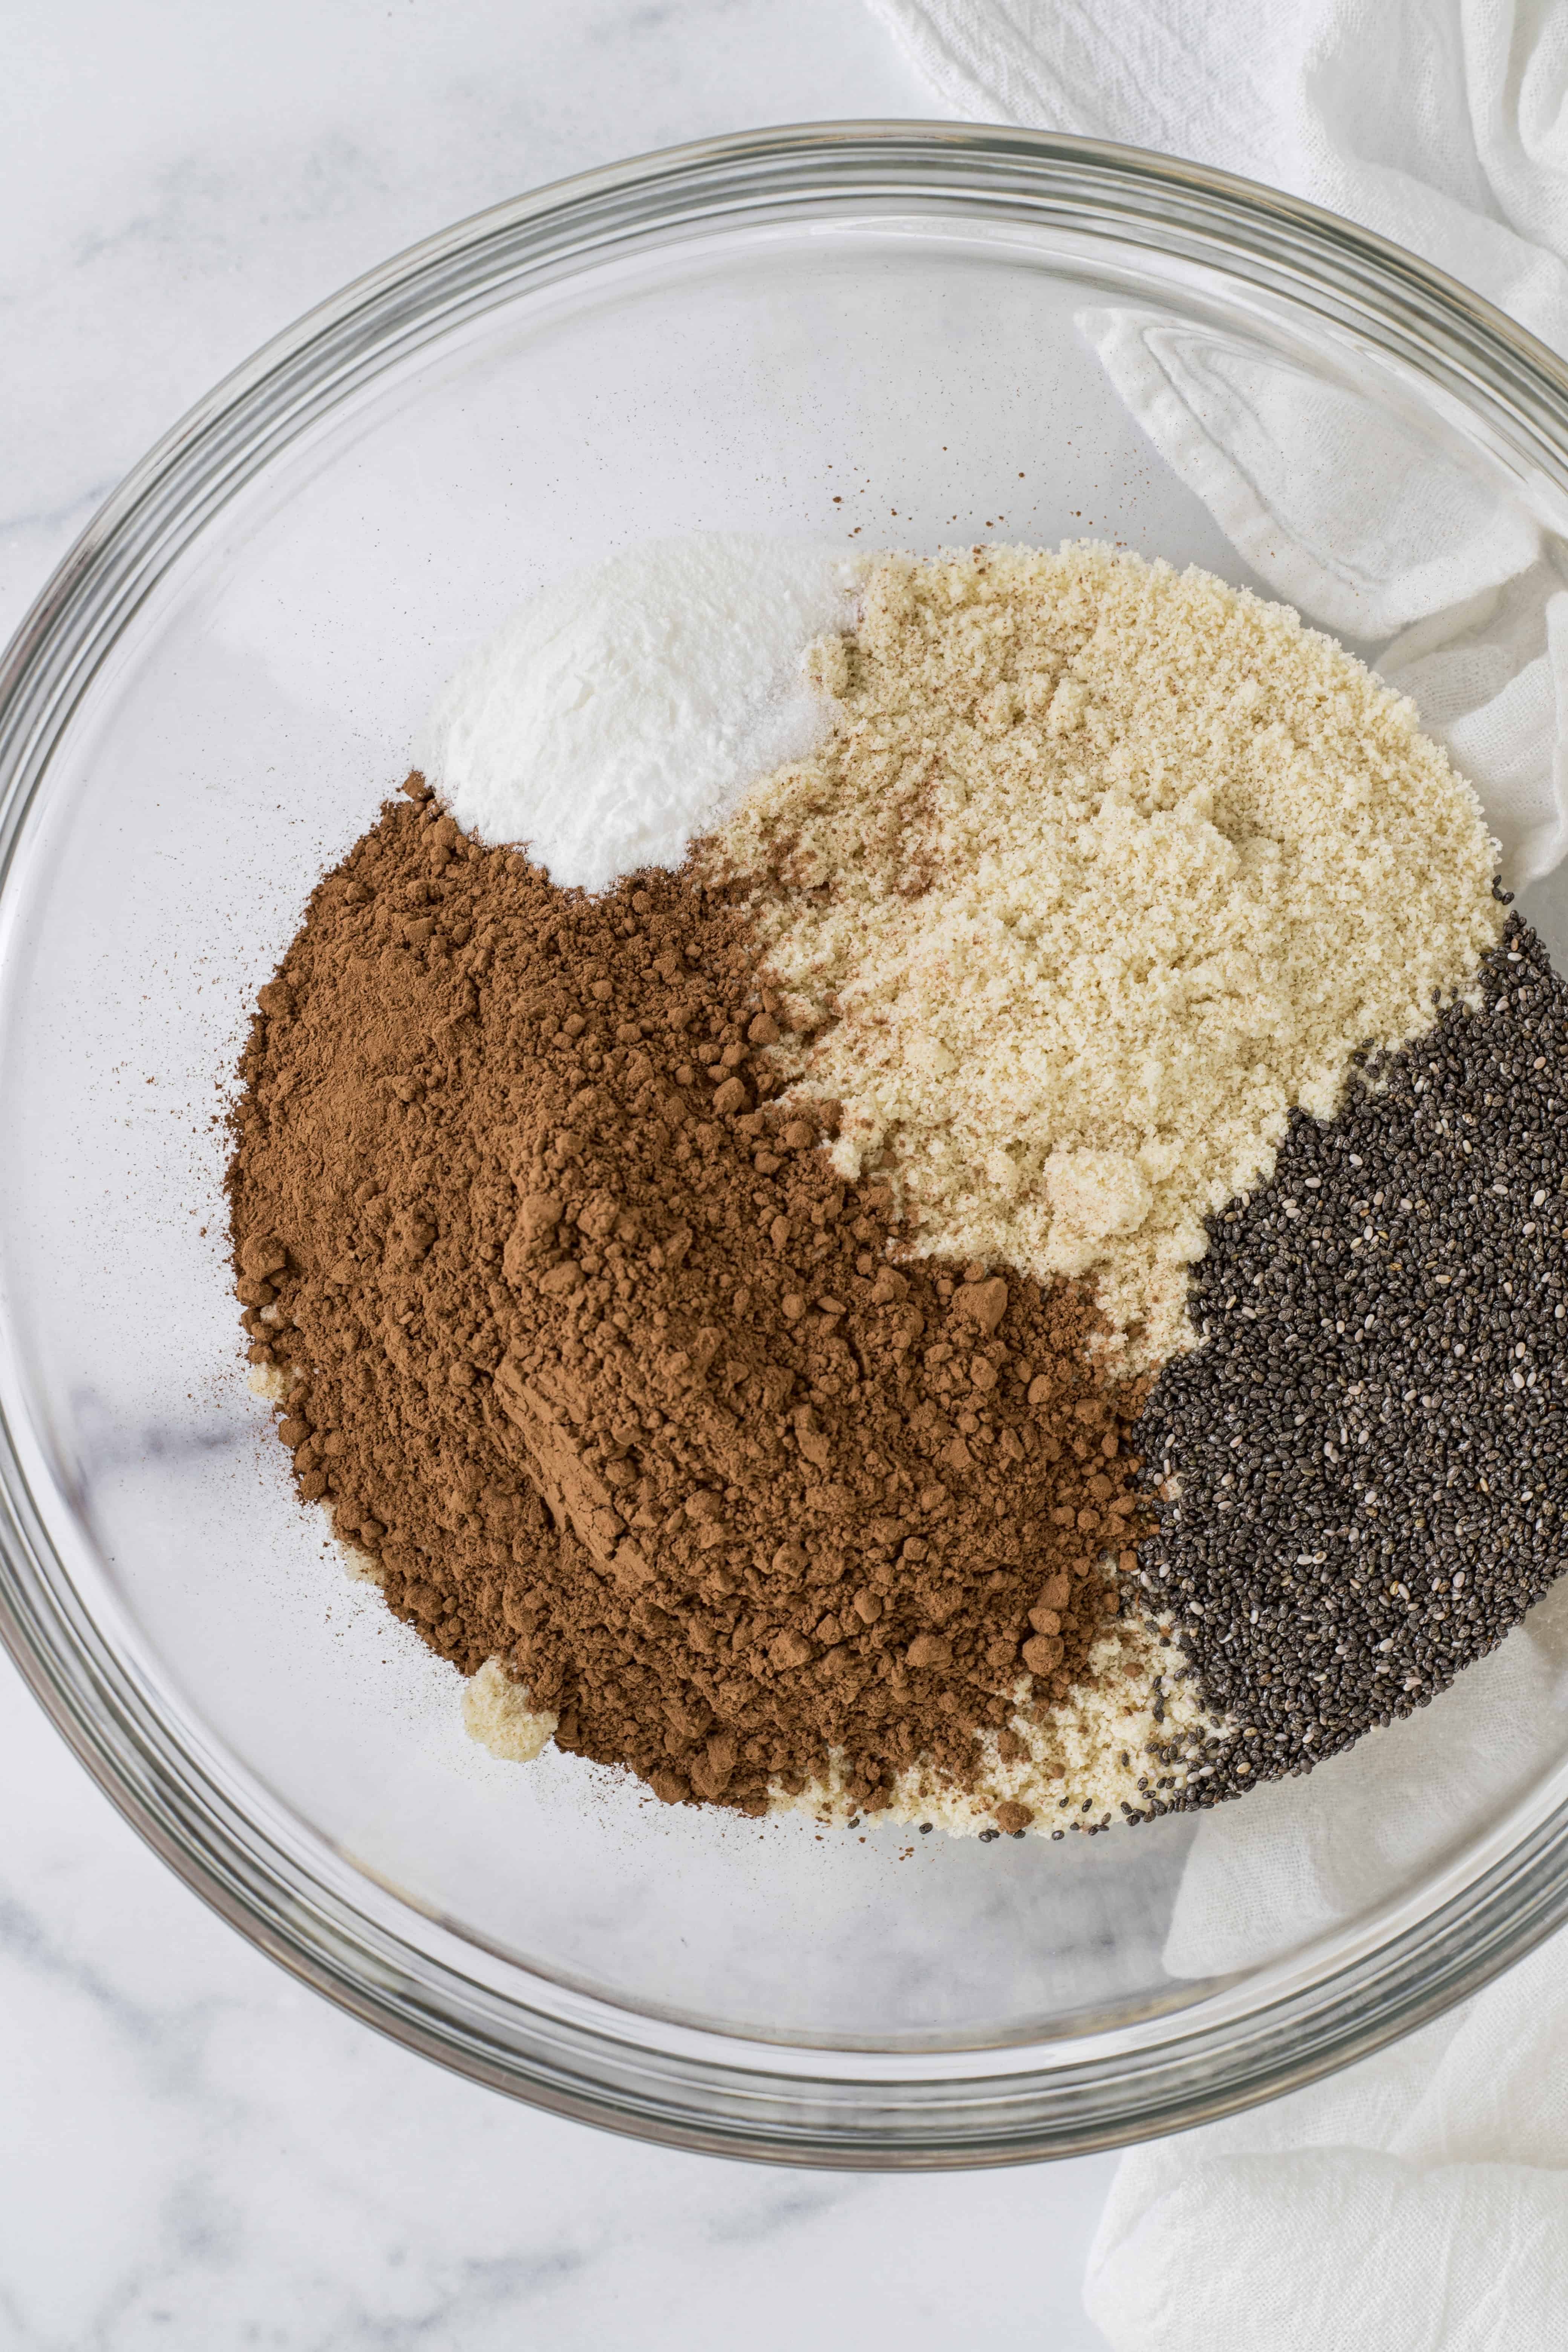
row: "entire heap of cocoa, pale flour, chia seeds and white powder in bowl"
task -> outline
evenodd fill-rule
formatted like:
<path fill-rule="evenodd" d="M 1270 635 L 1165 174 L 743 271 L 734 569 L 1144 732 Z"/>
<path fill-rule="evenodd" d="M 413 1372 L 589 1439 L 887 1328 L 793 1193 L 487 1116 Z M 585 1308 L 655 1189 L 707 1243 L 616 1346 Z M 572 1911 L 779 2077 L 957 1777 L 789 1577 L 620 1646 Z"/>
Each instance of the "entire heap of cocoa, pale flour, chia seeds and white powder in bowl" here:
<path fill-rule="evenodd" d="M 442 706 L 555 877 L 411 779 L 261 990 L 235 1265 L 301 1498 L 475 1738 L 670 1802 L 1093 1835 L 1425 1703 L 1563 1566 L 1568 990 L 1469 790 L 1201 574 L 882 557 L 832 736 L 628 875 L 809 604 L 719 741 L 722 562 L 684 637 L 661 562 L 597 708 L 604 576 Z"/>

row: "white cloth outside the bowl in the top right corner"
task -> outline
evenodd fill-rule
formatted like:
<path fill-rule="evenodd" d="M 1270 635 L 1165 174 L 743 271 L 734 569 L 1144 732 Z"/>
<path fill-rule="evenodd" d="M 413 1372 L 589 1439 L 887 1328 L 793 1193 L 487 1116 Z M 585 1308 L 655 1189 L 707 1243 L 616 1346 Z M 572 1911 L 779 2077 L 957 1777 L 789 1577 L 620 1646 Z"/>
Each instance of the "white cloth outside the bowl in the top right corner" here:
<path fill-rule="evenodd" d="M 1552 0 L 870 0 L 976 122 L 1124 139 L 1375 228 L 1568 353 Z"/>

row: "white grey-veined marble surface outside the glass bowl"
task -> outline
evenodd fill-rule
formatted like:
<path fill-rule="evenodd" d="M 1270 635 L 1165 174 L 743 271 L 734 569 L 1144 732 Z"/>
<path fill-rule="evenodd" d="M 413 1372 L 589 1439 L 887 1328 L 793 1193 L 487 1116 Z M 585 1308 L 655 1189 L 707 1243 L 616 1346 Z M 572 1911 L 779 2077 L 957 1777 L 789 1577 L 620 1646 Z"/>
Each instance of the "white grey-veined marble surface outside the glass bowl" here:
<path fill-rule="evenodd" d="M 0 635 L 127 463 L 355 270 L 708 132 L 929 113 L 853 0 L 12 0 Z M 1100 2343 L 1114 2159 L 729 2166 L 447 2077 L 256 1957 L 0 1668 L 0 2352 Z"/>

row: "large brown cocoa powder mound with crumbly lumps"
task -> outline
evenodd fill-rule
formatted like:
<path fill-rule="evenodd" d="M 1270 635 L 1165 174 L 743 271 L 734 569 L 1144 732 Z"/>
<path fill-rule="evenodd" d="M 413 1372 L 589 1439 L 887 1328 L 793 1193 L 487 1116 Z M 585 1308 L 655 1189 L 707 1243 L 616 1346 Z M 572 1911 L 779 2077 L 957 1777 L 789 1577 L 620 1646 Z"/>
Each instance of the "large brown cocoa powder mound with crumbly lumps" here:
<path fill-rule="evenodd" d="M 889 1192 L 769 1101 L 722 894 L 559 891 L 404 790 L 242 1058 L 237 1291 L 301 1496 L 665 1799 L 755 1813 L 830 1750 L 867 1809 L 917 1759 L 971 1785 L 1117 1611 L 1143 1388 L 1072 1287 L 893 1263 Z"/>

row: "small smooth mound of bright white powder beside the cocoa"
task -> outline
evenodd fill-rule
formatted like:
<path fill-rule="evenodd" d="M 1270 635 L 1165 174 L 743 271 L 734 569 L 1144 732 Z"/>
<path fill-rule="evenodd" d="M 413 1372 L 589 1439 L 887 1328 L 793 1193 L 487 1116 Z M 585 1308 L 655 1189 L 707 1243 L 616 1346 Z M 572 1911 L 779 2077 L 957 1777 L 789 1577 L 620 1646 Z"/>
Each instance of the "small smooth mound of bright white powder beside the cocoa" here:
<path fill-rule="evenodd" d="M 675 868 L 832 708 L 806 644 L 863 562 L 809 539 L 654 539 L 531 597 L 437 696 L 414 760 L 458 826 L 604 891 Z"/>

